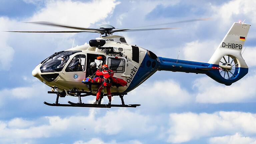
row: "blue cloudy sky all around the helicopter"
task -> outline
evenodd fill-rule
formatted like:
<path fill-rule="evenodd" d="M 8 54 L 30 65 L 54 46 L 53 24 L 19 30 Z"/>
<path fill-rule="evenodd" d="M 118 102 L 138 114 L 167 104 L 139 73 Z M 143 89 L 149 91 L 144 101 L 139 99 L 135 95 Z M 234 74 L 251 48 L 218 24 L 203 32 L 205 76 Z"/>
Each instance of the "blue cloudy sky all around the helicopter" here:
<path fill-rule="evenodd" d="M 251 28 L 243 54 L 249 73 L 238 82 L 225 86 L 202 74 L 158 71 L 125 96 L 127 104 L 140 107 L 109 110 L 46 106 L 43 102 L 55 101 L 55 95 L 31 75 L 43 59 L 72 47 L 74 38 L 75 45 L 83 45 L 98 34 L 0 32 L 0 143 L 256 143 L 255 5 L 249 0 L 1 1 L 0 31 L 64 30 L 26 21 L 130 28 L 210 18 L 167 25 L 177 30 L 116 33 L 157 56 L 176 58 L 180 51 L 180 59 L 200 62 L 208 62 L 233 22 L 245 19 Z M 77 101 L 60 102 L 69 100 Z M 114 97 L 113 103 L 119 102 Z"/>

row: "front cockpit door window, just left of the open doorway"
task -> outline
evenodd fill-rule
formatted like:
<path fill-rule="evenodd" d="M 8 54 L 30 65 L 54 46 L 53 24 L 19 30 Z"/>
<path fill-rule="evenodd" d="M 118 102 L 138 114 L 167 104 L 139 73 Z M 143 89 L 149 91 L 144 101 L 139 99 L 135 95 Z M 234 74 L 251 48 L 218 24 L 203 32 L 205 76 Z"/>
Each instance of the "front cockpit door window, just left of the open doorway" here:
<path fill-rule="evenodd" d="M 68 64 L 66 72 L 76 72 L 85 70 L 85 55 L 76 55 Z"/>

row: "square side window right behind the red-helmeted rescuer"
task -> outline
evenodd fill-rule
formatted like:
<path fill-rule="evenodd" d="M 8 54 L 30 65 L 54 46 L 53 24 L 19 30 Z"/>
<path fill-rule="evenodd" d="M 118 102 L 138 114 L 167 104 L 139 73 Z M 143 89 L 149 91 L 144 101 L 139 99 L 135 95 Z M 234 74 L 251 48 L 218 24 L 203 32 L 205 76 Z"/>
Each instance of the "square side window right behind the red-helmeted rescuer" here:
<path fill-rule="evenodd" d="M 108 58 L 108 66 L 114 73 L 122 73 L 125 68 L 125 60 L 118 58 Z"/>

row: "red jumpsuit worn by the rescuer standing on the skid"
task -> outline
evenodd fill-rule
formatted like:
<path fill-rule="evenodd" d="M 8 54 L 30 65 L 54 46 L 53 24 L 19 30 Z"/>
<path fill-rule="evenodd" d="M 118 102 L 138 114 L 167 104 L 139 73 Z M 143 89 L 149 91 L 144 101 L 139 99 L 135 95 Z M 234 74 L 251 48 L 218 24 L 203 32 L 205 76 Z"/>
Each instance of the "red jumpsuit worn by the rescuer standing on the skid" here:
<path fill-rule="evenodd" d="M 110 71 L 110 74 L 109 72 Z M 111 92 L 110 92 L 110 87 L 111 87 L 111 83 L 107 83 L 107 79 L 110 79 L 113 77 L 114 72 L 112 70 L 103 70 L 103 71 L 96 71 L 96 75 L 97 76 L 103 76 L 103 86 L 107 87 L 107 95 L 108 95 L 108 99 L 111 100 Z M 97 91 L 97 95 L 96 95 L 96 100 L 100 99 L 100 93 L 101 90 L 103 89 L 102 84 L 99 85 L 98 91 Z"/>

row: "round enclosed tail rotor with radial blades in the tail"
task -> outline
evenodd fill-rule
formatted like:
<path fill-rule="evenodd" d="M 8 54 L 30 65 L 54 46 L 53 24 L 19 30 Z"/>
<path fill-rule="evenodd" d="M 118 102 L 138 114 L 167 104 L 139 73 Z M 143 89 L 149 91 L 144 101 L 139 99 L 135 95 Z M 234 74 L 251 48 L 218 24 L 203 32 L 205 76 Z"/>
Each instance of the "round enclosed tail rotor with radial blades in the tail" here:
<path fill-rule="evenodd" d="M 225 55 L 221 58 L 219 67 L 220 74 L 225 79 L 232 79 L 237 75 L 237 69 L 238 67 L 238 61 L 237 59 L 232 55 Z"/>

